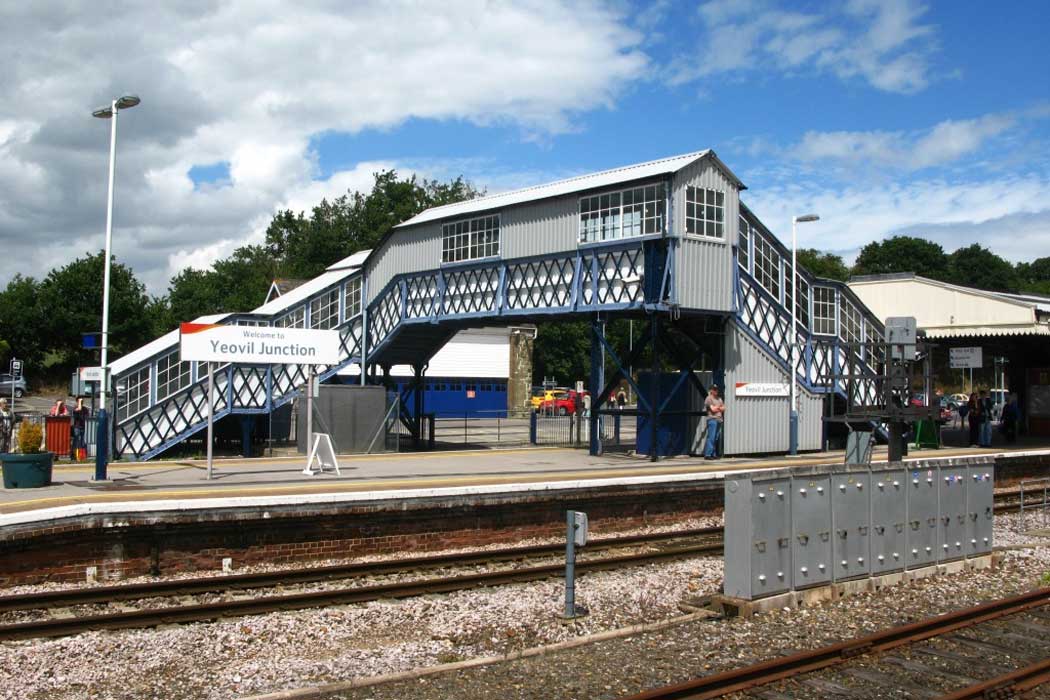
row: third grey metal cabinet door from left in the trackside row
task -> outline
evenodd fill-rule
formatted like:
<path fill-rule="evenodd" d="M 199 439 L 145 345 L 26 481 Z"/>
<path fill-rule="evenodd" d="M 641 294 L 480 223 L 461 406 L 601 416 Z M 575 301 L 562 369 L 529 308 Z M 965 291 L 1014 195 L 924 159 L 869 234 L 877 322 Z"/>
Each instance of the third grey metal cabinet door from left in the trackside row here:
<path fill-rule="evenodd" d="M 835 580 L 867 576 L 872 571 L 870 484 L 867 470 L 832 475 L 832 576 Z"/>

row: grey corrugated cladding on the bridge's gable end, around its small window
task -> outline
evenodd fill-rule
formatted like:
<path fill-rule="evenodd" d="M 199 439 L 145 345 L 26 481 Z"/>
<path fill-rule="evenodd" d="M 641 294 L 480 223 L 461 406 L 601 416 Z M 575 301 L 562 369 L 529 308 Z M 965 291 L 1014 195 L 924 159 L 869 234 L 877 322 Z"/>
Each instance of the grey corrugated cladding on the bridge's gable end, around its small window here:
<path fill-rule="evenodd" d="M 702 187 L 726 193 L 721 240 L 686 233 L 686 188 Z M 682 309 L 733 310 L 733 245 L 736 242 L 740 195 L 736 186 L 709 158 L 682 168 L 673 185 L 673 227 L 678 249 L 675 278 Z"/>

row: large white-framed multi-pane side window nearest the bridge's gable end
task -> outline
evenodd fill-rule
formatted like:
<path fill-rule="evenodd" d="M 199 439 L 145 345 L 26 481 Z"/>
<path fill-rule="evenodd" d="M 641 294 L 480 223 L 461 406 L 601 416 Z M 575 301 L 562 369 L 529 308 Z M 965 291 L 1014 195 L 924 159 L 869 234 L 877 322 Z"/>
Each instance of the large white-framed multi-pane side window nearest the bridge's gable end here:
<path fill-rule="evenodd" d="M 580 198 L 580 242 L 664 232 L 664 183 Z"/>

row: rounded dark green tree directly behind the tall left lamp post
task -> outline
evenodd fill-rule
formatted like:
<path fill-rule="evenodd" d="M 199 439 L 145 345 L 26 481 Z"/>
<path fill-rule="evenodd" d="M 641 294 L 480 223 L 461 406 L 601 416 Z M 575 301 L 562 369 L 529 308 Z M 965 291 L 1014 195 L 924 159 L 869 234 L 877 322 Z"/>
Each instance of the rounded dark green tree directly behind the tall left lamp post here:
<path fill-rule="evenodd" d="M 63 369 L 97 359 L 80 345 L 82 333 L 102 328 L 103 255 L 100 251 L 51 270 L 40 283 L 35 325 Z M 150 340 L 156 319 L 145 285 L 128 267 L 112 262 L 109 280 L 109 352 L 116 359 Z"/>

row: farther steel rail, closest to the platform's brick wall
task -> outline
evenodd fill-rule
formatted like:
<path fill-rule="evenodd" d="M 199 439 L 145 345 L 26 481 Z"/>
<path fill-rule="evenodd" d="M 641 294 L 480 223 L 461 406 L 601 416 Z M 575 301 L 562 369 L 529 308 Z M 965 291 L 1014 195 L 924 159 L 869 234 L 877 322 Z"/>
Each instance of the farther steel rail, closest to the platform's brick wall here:
<path fill-rule="evenodd" d="M 587 545 L 588 551 L 601 551 L 617 547 L 629 547 L 652 542 L 670 539 L 686 539 L 693 537 L 721 537 L 722 528 L 696 528 L 677 532 L 646 533 L 594 539 Z M 227 576 L 205 576 L 200 578 L 184 578 L 181 580 L 150 581 L 146 584 L 129 584 L 127 586 L 101 586 L 78 589 L 62 589 L 40 593 L 22 593 L 18 595 L 0 596 L 0 612 L 17 610 L 36 610 L 39 608 L 58 608 L 89 603 L 110 602 L 113 600 L 141 600 L 174 595 L 194 595 L 200 593 L 216 593 L 222 591 L 244 590 L 252 588 L 271 588 L 291 584 L 313 584 L 341 578 L 359 578 L 390 573 L 399 573 L 413 569 L 435 569 L 440 567 L 469 566 L 486 561 L 505 561 L 534 556 L 554 556 L 565 551 L 565 545 L 531 545 L 528 547 L 511 547 L 501 550 L 479 552 L 463 552 L 458 554 L 439 554 L 436 556 L 417 556 L 405 559 L 385 559 L 361 564 L 339 564 L 328 567 L 311 567 L 303 569 L 281 569 L 250 574 L 231 574 Z"/>

